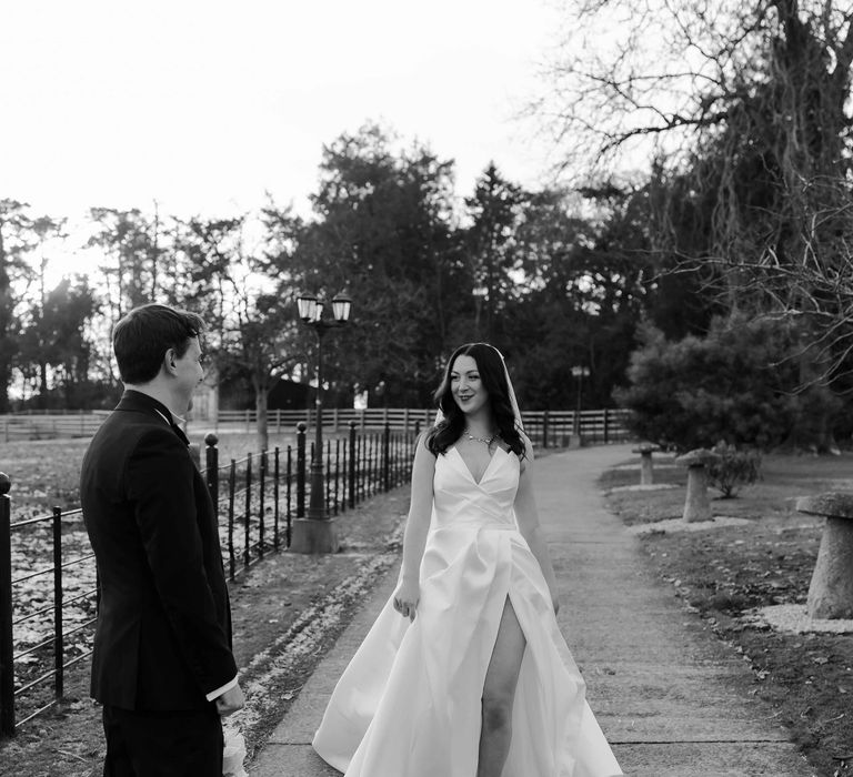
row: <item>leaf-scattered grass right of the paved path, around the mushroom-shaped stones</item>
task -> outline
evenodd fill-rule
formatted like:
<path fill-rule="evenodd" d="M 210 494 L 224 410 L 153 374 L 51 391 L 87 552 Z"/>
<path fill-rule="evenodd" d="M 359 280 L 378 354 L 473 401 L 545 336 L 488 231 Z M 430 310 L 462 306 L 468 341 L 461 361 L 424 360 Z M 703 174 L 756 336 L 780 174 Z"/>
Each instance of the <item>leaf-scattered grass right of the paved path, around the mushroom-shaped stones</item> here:
<path fill-rule="evenodd" d="M 656 483 L 678 488 L 619 490 L 639 482 L 639 470 L 620 467 L 600 481 L 610 509 L 626 525 L 681 517 L 682 468 L 655 468 Z M 641 544 L 685 605 L 750 660 L 754 682 L 747 693 L 773 706 L 817 774 L 841 777 L 853 775 L 853 634 L 785 634 L 744 617 L 755 607 L 805 603 L 822 519 L 797 513 L 794 505 L 799 496 L 825 491 L 853 491 L 853 455 L 770 455 L 762 481 L 736 498 L 711 503 L 715 516 L 746 518 L 747 524 L 652 531 L 641 535 Z"/>

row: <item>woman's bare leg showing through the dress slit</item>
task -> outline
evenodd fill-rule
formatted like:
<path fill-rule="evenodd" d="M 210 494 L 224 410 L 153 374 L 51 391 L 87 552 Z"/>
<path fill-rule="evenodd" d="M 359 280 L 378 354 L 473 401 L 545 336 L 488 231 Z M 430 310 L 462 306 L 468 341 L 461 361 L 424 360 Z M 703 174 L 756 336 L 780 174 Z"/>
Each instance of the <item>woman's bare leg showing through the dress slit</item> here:
<path fill-rule="evenodd" d="M 512 738 L 512 703 L 525 646 L 524 633 L 508 596 L 483 685 L 483 725 L 476 777 L 501 777 L 503 771 Z"/>

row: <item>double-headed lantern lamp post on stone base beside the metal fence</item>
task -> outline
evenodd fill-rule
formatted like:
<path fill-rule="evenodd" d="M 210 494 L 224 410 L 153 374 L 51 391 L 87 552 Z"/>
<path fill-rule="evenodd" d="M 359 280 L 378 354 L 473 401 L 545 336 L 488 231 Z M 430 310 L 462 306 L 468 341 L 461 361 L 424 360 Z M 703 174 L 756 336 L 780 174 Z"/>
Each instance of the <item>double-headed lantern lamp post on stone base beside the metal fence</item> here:
<path fill-rule="evenodd" d="M 338 537 L 334 519 L 325 509 L 325 477 L 323 475 L 323 337 L 331 329 L 343 326 L 350 317 L 352 300 L 338 294 L 332 300 L 333 320 L 323 319 L 323 303 L 313 294 L 297 297 L 299 317 L 317 333 L 317 414 L 314 421 L 314 455 L 311 458 L 309 483 L 311 498 L 308 517 L 293 523 L 290 549 L 295 553 L 337 553 Z"/>

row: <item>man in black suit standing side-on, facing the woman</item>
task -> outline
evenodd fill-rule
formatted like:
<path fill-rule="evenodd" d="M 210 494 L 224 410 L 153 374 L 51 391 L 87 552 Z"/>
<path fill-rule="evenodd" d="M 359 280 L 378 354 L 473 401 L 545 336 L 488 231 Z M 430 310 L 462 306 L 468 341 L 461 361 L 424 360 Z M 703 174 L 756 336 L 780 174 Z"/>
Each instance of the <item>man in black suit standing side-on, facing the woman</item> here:
<path fill-rule="evenodd" d="M 175 423 L 204 376 L 202 326 L 158 304 L 116 324 L 124 394 L 83 460 L 106 777 L 221 777 L 220 716 L 243 706 L 217 515 Z"/>

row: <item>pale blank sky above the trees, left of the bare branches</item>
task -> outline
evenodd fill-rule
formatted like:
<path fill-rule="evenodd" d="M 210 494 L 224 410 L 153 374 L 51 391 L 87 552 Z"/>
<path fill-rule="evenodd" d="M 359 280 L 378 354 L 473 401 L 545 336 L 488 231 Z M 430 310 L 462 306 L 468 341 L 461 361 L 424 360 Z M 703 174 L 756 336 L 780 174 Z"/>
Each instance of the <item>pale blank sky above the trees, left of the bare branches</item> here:
<path fill-rule="evenodd" d="M 518 119 L 554 43 L 545 0 L 0 0 L 0 198 L 308 212 L 323 144 L 379 121 L 456 162 L 543 180 Z"/>

